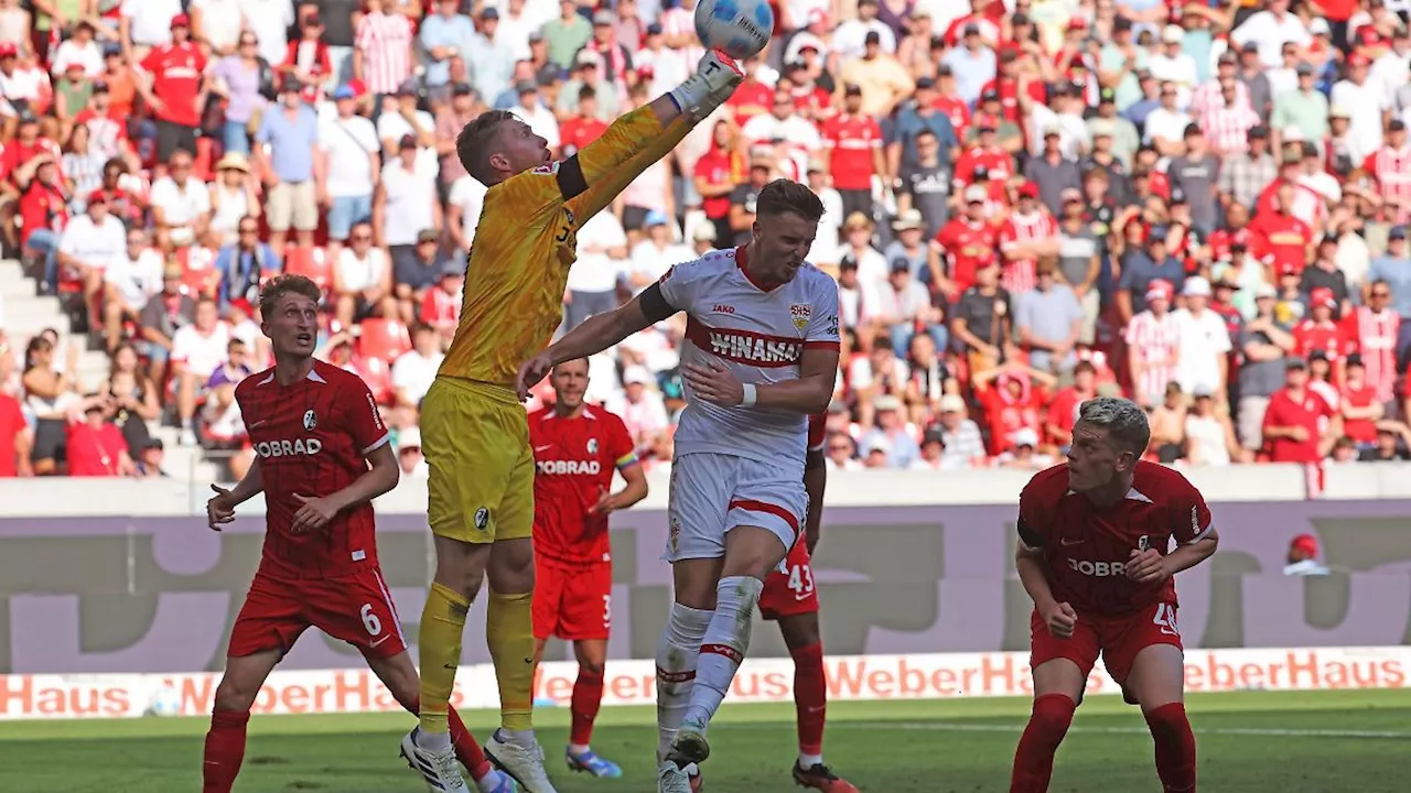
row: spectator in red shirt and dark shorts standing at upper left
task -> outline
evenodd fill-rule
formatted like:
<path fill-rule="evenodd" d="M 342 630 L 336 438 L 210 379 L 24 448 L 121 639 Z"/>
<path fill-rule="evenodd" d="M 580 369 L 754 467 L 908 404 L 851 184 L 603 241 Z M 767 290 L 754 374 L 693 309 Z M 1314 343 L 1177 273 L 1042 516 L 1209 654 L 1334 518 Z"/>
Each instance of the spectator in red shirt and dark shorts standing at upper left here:
<path fill-rule="evenodd" d="M 157 159 L 176 150 L 196 151 L 196 128 L 206 100 L 206 56 L 190 40 L 186 14 L 172 17 L 172 42 L 143 58 L 137 92 L 157 117 Z"/>

